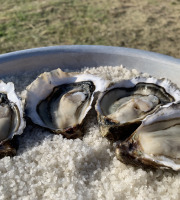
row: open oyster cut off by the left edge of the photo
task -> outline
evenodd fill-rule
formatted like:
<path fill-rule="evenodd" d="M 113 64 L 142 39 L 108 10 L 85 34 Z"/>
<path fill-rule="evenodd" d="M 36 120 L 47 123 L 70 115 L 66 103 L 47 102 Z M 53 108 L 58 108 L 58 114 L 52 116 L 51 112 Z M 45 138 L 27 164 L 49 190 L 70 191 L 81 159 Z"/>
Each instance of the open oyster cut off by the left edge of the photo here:
<path fill-rule="evenodd" d="M 25 125 L 23 106 L 15 94 L 14 84 L 0 81 L 0 158 L 16 154 L 11 139 L 20 135 Z"/>

